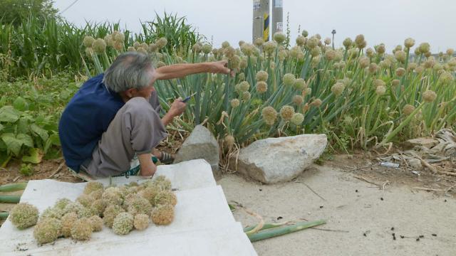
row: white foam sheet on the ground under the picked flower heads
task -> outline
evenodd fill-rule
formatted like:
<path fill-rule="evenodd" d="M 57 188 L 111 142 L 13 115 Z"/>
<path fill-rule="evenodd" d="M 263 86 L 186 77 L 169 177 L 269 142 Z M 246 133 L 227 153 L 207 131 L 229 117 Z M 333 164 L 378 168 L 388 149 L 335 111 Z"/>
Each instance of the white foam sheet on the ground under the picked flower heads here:
<path fill-rule="evenodd" d="M 60 238 L 51 245 L 38 246 L 33 228 L 18 230 L 7 220 L 0 228 L 0 251 L 7 255 L 257 255 L 242 225 L 234 220 L 222 188 L 215 185 L 209 164 L 197 160 L 162 167 L 167 168 L 160 168 L 158 174 L 166 175 L 179 189 L 175 191 L 175 220 L 170 225 L 151 223 L 146 230 L 133 230 L 125 236 L 103 227 L 88 242 Z M 181 177 L 187 174 L 192 174 L 192 178 Z M 136 180 L 137 177 L 113 179 L 118 184 Z M 29 181 L 21 202 L 33 204 L 42 213 L 58 198 L 75 200 L 84 186 L 85 183 L 53 180 Z"/>

